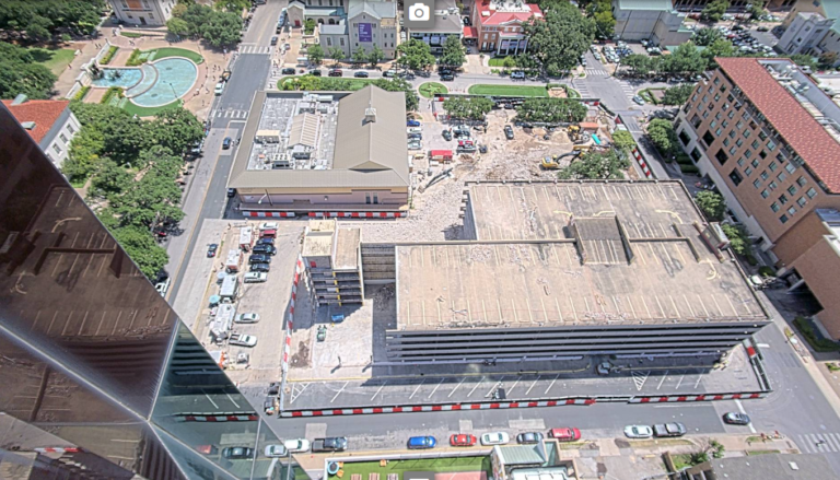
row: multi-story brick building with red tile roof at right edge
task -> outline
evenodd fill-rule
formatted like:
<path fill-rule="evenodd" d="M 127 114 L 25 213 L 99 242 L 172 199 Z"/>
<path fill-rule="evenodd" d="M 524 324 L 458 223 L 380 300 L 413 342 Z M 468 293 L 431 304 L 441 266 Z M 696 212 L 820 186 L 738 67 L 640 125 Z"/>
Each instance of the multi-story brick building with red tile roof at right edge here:
<path fill-rule="evenodd" d="M 780 274 L 793 274 L 791 262 L 816 243 L 798 238 L 831 235 L 821 226 L 821 234 L 803 233 L 821 223 L 815 212 L 840 209 L 840 106 L 790 60 L 716 61 L 720 68 L 698 83 L 680 110 L 677 134 L 735 219 L 778 260 Z M 794 280 L 814 282 L 815 295 L 822 290 L 816 284 L 826 279 L 813 269 L 797 271 Z M 840 338 L 836 284 L 830 290 L 817 298 L 824 309 L 818 318 L 832 319 L 828 330 Z"/>

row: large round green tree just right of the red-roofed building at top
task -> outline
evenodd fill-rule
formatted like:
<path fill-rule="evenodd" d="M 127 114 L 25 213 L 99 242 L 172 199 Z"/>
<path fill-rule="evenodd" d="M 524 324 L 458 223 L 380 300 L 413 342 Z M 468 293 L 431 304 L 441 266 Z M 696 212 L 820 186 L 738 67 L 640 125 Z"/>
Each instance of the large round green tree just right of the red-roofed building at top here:
<path fill-rule="evenodd" d="M 578 65 L 595 37 L 595 21 L 581 15 L 571 3 L 557 4 L 541 20 L 524 24 L 525 35 L 530 38 L 525 55 L 549 75 L 559 75 Z"/>

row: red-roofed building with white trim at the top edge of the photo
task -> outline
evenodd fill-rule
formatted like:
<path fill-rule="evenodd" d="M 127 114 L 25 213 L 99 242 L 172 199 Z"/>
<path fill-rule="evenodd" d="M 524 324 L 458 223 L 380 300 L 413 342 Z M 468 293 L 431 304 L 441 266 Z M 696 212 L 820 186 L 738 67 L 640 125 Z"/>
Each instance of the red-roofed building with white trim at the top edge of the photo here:
<path fill-rule="evenodd" d="M 476 0 L 471 14 L 478 49 L 498 56 L 526 51 L 528 38 L 523 25 L 532 17 L 542 17 L 539 5 L 513 0 Z"/>

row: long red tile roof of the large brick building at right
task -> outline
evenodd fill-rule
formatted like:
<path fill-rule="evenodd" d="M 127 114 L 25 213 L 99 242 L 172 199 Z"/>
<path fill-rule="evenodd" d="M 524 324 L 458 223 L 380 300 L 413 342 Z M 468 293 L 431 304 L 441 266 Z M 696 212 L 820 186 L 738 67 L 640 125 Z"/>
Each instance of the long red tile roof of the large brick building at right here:
<path fill-rule="evenodd" d="M 840 143 L 756 58 L 715 58 L 744 95 L 832 192 L 840 192 Z"/>

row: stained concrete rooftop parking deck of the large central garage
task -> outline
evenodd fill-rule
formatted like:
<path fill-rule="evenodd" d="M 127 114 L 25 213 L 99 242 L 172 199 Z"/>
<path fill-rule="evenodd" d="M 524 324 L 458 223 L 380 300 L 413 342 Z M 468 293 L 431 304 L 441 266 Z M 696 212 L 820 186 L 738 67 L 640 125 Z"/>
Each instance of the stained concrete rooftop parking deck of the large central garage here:
<path fill-rule="evenodd" d="M 396 247 L 399 329 L 768 319 L 679 182 L 467 189 L 477 241 Z"/>

